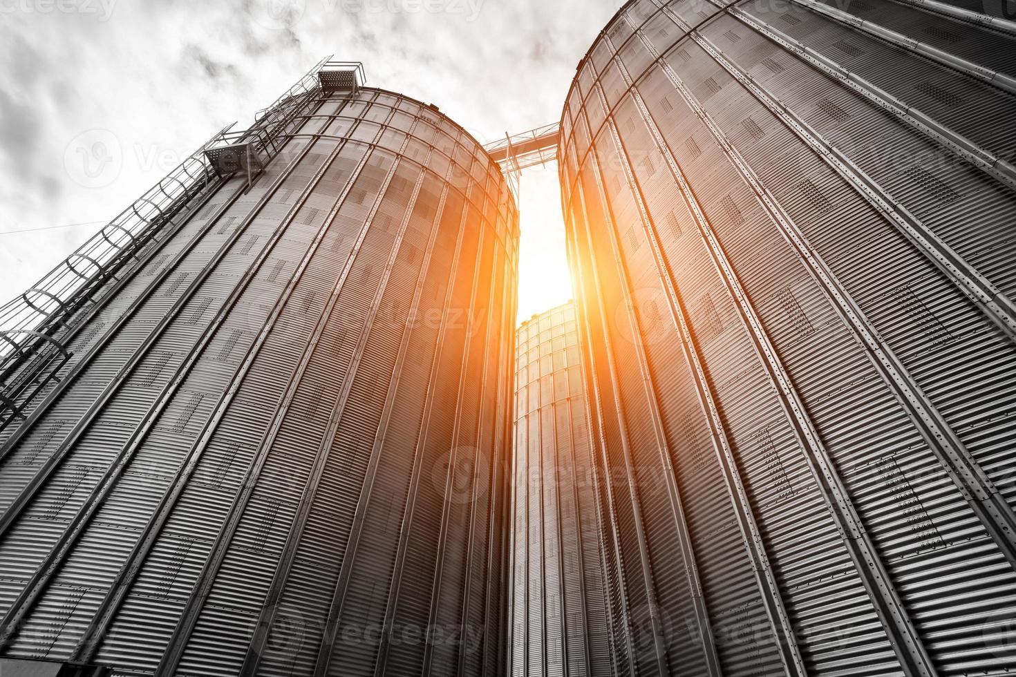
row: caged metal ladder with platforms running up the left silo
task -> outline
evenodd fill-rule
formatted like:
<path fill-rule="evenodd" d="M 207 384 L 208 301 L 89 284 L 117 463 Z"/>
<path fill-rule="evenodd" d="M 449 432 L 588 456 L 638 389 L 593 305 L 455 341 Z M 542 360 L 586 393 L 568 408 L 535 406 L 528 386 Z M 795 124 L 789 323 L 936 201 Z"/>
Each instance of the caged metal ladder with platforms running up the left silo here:
<path fill-rule="evenodd" d="M 322 72 L 353 67 L 359 86 L 362 65 L 329 59 L 322 59 L 258 112 L 249 129 L 231 131 L 234 123 L 216 132 L 31 288 L 0 306 L 0 430 L 57 379 L 71 356 L 64 339 L 86 317 L 82 311 L 110 290 L 111 280 L 115 283 L 133 272 L 148 244 L 160 242 L 165 231 L 188 218 L 200 198 L 236 171 L 248 173 L 248 184 L 263 171 L 322 92 Z M 226 171 L 234 165 L 233 172 Z"/>

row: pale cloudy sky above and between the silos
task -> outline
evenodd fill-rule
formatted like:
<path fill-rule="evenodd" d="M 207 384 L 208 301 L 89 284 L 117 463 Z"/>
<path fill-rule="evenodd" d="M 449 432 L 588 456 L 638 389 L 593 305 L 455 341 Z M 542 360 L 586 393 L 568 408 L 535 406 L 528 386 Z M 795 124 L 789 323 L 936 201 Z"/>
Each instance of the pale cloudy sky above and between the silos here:
<path fill-rule="evenodd" d="M 322 57 L 481 141 L 561 117 L 620 0 L 0 0 L 0 301 Z M 82 139 L 116 161 L 82 172 Z M 91 147 L 89 145 L 88 147 Z M 570 296 L 556 167 L 522 179 L 519 317 Z"/>

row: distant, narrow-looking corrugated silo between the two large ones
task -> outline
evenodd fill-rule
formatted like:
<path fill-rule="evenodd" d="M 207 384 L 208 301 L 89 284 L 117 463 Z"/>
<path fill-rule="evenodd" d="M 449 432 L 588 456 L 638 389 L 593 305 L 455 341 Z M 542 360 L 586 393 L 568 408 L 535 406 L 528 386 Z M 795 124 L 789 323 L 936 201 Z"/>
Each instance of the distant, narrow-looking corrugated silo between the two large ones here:
<path fill-rule="evenodd" d="M 566 303 L 515 337 L 512 677 L 616 674 L 577 330 Z"/>

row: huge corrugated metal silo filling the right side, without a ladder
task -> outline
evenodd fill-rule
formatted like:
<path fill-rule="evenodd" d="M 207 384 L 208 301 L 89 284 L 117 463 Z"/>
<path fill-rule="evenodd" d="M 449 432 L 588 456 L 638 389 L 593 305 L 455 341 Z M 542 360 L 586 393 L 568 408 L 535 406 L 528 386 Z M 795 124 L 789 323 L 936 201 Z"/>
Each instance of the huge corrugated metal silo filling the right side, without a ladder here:
<path fill-rule="evenodd" d="M 636 0 L 579 65 L 562 190 L 625 674 L 1012 674 L 1006 8 Z"/>

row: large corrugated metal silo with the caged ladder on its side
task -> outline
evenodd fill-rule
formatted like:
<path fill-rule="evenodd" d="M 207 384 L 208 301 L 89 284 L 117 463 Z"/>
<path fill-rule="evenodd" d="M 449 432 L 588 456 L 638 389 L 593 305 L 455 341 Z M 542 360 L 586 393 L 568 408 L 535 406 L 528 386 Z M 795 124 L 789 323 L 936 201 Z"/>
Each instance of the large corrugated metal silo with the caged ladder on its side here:
<path fill-rule="evenodd" d="M 322 95 L 78 332 L 0 451 L 5 656 L 503 669 L 518 217 L 432 107 Z"/>

